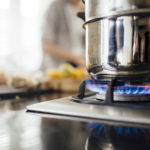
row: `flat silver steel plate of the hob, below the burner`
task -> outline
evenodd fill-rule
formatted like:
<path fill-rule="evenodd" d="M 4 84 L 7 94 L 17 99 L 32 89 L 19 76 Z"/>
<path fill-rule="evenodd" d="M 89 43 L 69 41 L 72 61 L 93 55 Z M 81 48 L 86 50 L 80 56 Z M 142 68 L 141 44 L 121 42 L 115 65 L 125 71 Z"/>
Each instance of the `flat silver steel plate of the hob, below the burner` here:
<path fill-rule="evenodd" d="M 150 109 L 135 109 L 91 104 L 80 104 L 70 101 L 70 97 L 61 98 L 27 107 L 27 112 L 76 118 L 80 121 L 113 121 L 133 125 L 150 125 Z"/>

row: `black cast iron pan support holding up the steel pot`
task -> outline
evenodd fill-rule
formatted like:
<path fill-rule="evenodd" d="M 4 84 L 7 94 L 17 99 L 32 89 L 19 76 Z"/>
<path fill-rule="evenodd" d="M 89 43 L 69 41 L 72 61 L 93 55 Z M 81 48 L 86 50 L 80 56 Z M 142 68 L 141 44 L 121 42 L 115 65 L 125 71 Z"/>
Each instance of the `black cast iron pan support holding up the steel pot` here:
<path fill-rule="evenodd" d="M 107 91 L 106 91 L 106 96 L 104 101 L 93 101 L 90 99 L 90 96 L 94 96 L 97 94 L 96 93 L 90 93 L 86 94 L 86 80 L 81 82 L 79 90 L 78 90 L 78 95 L 71 97 L 70 100 L 82 104 L 94 104 L 94 105 L 107 105 L 107 106 L 117 106 L 117 107 L 128 107 L 128 108 L 138 108 L 138 109 L 150 109 L 150 102 L 137 102 L 137 103 L 131 103 L 131 102 L 116 102 L 114 101 L 114 88 L 115 85 L 117 85 L 118 78 L 112 78 L 109 81 L 109 84 L 107 86 Z M 93 84 L 96 81 L 93 81 Z M 98 83 L 99 84 L 99 83 Z M 149 95 L 150 96 L 150 95 Z M 89 99 L 88 99 L 89 97 Z M 84 99 L 87 98 L 87 99 Z"/>

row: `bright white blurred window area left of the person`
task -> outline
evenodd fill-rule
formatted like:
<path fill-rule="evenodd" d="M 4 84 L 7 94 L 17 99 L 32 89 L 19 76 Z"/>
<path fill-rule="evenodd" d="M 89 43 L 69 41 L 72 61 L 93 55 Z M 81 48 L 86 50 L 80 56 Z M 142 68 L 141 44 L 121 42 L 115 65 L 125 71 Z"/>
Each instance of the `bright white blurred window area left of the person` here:
<path fill-rule="evenodd" d="M 0 71 L 23 73 L 39 69 L 41 23 L 52 1 L 0 0 Z"/>

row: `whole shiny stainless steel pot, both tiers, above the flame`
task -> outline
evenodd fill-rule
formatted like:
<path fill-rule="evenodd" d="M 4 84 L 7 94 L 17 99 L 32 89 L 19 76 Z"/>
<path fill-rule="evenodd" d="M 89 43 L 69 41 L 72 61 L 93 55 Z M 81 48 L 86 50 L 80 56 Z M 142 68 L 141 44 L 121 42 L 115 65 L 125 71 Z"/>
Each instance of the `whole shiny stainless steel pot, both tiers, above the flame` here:
<path fill-rule="evenodd" d="M 95 77 L 150 77 L 150 1 L 86 0 L 86 65 Z"/>

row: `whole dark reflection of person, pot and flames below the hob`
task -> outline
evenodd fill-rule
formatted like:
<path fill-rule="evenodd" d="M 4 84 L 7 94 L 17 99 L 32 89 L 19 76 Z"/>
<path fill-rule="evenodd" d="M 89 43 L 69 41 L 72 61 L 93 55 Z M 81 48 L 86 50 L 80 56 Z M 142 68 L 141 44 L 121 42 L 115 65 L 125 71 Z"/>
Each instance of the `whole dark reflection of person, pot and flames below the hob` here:
<path fill-rule="evenodd" d="M 43 150 L 150 150 L 150 129 L 42 119 Z"/>

